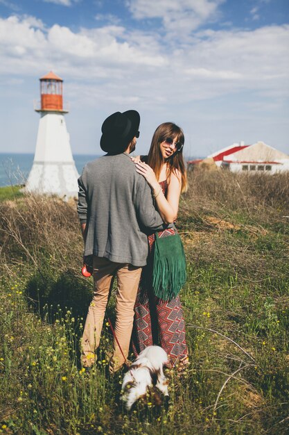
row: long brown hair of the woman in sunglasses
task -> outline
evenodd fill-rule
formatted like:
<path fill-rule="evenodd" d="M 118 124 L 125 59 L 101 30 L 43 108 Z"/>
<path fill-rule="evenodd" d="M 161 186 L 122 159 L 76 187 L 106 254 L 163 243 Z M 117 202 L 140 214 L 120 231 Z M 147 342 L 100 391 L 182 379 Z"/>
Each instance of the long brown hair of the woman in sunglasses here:
<path fill-rule="evenodd" d="M 154 136 L 152 136 L 152 143 L 150 145 L 150 151 L 148 152 L 148 165 L 152 167 L 157 179 L 159 179 L 161 167 L 165 163 L 165 159 L 161 154 L 161 142 L 164 142 L 166 138 L 175 137 L 177 142 L 182 142 L 182 144 L 184 144 L 184 132 L 173 122 L 164 122 L 163 124 L 159 125 L 154 133 Z M 166 174 L 168 181 L 170 179 L 170 174 L 176 170 L 179 170 L 182 175 L 181 192 L 186 192 L 188 183 L 186 180 L 186 167 L 184 165 L 183 149 L 170 156 L 168 160 L 166 160 L 166 163 L 168 163 L 168 172 Z"/>

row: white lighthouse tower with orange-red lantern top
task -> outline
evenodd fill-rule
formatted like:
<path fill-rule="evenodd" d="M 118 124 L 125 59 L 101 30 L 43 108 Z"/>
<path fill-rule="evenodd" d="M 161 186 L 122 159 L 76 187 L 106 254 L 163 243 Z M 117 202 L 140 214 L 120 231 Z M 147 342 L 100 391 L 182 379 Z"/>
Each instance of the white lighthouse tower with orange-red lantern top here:
<path fill-rule="evenodd" d="M 53 72 L 40 79 L 41 105 L 33 167 L 25 190 L 69 198 L 78 194 L 78 172 L 64 120 L 63 80 Z"/>

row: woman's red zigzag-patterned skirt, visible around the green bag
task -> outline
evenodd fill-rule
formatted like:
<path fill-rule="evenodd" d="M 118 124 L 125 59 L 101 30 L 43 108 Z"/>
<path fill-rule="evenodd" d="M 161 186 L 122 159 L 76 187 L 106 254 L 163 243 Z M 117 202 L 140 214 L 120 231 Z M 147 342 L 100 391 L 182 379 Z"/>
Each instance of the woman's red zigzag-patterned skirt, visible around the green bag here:
<path fill-rule="evenodd" d="M 170 228 L 159 231 L 159 237 L 175 234 Z M 170 301 L 159 299 L 152 291 L 152 255 L 155 234 L 148 236 L 150 254 L 148 265 L 143 268 L 137 300 L 134 306 L 134 329 L 132 332 L 132 348 L 137 356 L 145 347 L 161 346 L 169 357 L 168 367 L 184 366 L 189 362 L 184 315 L 179 296 Z"/>

